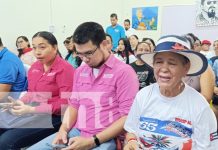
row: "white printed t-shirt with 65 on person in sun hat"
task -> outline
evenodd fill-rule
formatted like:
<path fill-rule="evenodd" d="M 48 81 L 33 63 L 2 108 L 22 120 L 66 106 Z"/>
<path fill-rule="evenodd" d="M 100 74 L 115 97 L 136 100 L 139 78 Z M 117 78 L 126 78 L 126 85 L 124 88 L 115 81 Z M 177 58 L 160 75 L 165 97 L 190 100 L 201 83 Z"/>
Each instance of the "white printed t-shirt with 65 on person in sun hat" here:
<path fill-rule="evenodd" d="M 204 97 L 185 84 L 176 97 L 165 97 L 157 83 L 137 93 L 124 128 L 138 137 L 143 149 L 215 150 L 214 113 Z"/>

